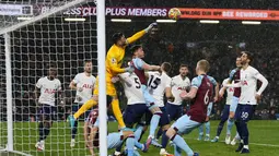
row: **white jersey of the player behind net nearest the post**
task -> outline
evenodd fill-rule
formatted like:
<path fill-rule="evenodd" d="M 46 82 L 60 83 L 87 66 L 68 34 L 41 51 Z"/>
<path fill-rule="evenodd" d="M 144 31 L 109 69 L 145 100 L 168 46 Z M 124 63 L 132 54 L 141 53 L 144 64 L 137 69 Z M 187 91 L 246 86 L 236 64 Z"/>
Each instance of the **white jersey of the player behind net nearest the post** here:
<path fill-rule="evenodd" d="M 94 84 L 96 82 L 95 76 L 88 76 L 84 72 L 79 73 L 72 80 L 77 84 L 77 87 L 82 87 L 82 92 L 77 91 L 74 103 L 85 103 L 93 95 Z"/>

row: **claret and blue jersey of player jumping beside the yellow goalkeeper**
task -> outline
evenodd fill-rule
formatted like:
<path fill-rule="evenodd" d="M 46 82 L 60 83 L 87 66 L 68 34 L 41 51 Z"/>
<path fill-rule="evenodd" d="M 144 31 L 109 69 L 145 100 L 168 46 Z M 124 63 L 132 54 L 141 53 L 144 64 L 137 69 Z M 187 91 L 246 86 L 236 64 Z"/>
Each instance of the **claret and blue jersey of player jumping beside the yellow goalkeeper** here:
<path fill-rule="evenodd" d="M 135 58 L 131 60 L 131 65 L 135 68 L 135 73 L 139 77 L 140 83 L 142 85 L 147 85 L 147 77 L 144 74 L 144 69 L 142 68 L 143 64 L 144 64 L 144 61 L 140 58 Z"/>

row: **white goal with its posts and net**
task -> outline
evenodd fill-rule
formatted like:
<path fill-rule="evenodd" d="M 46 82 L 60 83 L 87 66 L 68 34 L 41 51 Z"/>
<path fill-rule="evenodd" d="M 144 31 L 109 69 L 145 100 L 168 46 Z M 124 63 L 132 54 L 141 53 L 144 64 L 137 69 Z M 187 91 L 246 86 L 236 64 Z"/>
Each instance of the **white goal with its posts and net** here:
<path fill-rule="evenodd" d="M 31 3 L 28 5 L 36 5 Z M 83 122 L 79 123 L 75 147 L 70 147 L 70 113 L 74 93 L 68 88 L 75 74 L 82 72 L 83 61 L 92 59 L 93 75 L 100 76 L 100 103 L 106 104 L 105 86 L 105 1 L 62 0 L 51 8 L 53 0 L 40 0 L 40 7 L 50 5 L 47 12 L 33 15 L 1 15 L 0 12 L 0 155 L 1 152 L 20 155 L 89 155 L 83 141 Z M 4 0 L 0 4 L 22 4 L 26 1 Z M 96 5 L 96 16 L 67 15 L 71 8 Z M 37 9 L 37 8 L 36 8 Z M 36 11 L 33 8 L 33 12 Z M 9 16 L 9 22 L 5 22 Z M 16 19 L 18 17 L 18 19 Z M 65 19 L 72 19 L 66 21 Z M 85 19 L 84 21 L 74 21 Z M 7 23 L 7 25 L 5 25 Z M 2 56 L 4 55 L 4 56 Z M 56 120 L 46 140 L 46 149 L 34 148 L 38 139 L 38 109 L 34 88 L 47 68 L 55 63 L 58 79 L 66 94 L 66 104 L 57 106 Z M 100 155 L 107 156 L 106 105 L 100 105 Z M 60 110 L 62 109 L 62 110 Z"/>

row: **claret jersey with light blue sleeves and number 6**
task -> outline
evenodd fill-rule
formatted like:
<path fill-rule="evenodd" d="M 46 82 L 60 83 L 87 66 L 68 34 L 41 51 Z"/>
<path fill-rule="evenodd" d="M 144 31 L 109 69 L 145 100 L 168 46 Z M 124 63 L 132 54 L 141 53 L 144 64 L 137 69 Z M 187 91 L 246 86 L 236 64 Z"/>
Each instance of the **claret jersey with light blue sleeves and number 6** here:
<path fill-rule="evenodd" d="M 191 120 L 202 123 L 207 118 L 207 107 L 209 98 L 212 96 L 213 86 L 207 75 L 198 75 L 193 79 L 191 87 L 196 87 L 198 91 L 187 115 Z"/>

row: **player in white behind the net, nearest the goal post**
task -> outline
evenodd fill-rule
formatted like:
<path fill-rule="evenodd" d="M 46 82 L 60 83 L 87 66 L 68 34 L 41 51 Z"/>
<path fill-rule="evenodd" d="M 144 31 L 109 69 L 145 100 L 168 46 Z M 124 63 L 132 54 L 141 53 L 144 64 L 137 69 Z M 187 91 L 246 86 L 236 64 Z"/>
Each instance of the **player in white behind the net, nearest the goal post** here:
<path fill-rule="evenodd" d="M 95 81 L 95 76 L 92 75 L 92 62 L 84 61 L 84 72 L 77 74 L 69 85 L 71 89 L 77 91 L 74 104 L 71 108 L 72 113 L 77 112 L 85 101 L 92 98 Z M 88 117 L 89 112 L 86 111 L 84 117 Z M 74 146 L 77 132 L 78 120 L 74 121 L 74 127 L 71 128 L 71 147 Z"/>

